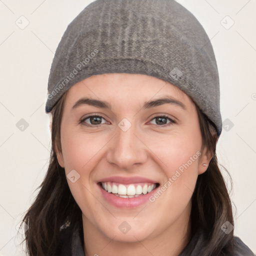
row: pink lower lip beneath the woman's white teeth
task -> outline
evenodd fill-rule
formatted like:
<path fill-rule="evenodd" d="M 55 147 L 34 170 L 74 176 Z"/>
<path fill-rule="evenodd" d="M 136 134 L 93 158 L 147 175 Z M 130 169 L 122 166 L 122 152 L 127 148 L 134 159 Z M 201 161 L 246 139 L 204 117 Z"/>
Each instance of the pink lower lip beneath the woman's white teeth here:
<path fill-rule="evenodd" d="M 99 186 L 99 189 L 100 189 L 103 197 L 105 198 L 105 200 L 107 202 L 109 202 L 110 204 L 112 204 L 116 207 L 119 207 L 119 208 L 138 207 L 138 206 L 142 205 L 143 203 L 145 203 L 146 201 L 148 201 L 149 197 L 155 192 L 154 191 L 155 189 L 153 189 L 151 192 L 142 194 L 137 197 L 123 198 L 123 197 L 116 196 L 113 193 L 108 193 L 105 189 L 103 189 L 101 187 L 100 184 L 98 184 L 98 186 Z"/>

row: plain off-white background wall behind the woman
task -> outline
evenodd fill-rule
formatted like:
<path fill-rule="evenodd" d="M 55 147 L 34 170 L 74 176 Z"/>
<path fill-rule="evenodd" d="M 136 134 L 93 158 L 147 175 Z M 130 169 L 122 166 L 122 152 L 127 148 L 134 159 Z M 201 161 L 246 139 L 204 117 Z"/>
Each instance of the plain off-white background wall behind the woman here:
<path fill-rule="evenodd" d="M 0 255 L 24 255 L 16 247 L 21 240 L 15 226 L 48 165 L 44 107 L 50 64 L 66 26 L 89 2 L 0 0 Z M 255 253 L 256 1 L 178 2 L 201 22 L 215 51 L 223 127 L 229 125 L 222 130 L 217 155 L 233 178 L 234 233 Z M 29 24 L 20 29 L 15 21 Z M 23 131 L 16 127 L 21 118 L 28 124 Z"/>

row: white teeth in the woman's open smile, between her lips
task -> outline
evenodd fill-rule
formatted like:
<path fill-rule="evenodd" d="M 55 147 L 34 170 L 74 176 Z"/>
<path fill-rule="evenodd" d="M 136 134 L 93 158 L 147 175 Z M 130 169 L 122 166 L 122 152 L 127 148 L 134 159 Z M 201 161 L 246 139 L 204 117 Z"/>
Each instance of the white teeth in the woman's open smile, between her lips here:
<path fill-rule="evenodd" d="M 99 185 L 108 193 L 122 198 L 133 198 L 150 193 L 159 186 L 159 183 L 140 182 L 132 184 L 121 184 L 116 182 L 99 182 Z"/>

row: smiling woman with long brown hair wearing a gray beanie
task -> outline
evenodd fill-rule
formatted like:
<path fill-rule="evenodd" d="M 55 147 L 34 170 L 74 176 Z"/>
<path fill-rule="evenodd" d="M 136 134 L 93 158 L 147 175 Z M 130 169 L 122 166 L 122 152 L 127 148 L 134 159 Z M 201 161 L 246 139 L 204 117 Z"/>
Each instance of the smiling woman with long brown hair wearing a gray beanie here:
<path fill-rule="evenodd" d="M 26 212 L 29 255 L 253 255 L 233 236 L 215 147 L 209 38 L 172 0 L 97 0 L 48 81 L 52 150 Z"/>

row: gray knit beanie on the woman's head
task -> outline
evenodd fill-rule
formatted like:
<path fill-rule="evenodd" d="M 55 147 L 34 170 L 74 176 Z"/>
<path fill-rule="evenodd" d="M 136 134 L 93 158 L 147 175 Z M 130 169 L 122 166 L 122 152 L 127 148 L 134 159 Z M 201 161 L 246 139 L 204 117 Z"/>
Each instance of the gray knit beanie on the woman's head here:
<path fill-rule="evenodd" d="M 102 73 L 139 73 L 189 95 L 219 136 L 219 78 L 210 40 L 174 0 L 96 0 L 67 26 L 56 49 L 45 111 L 75 83 Z"/>

